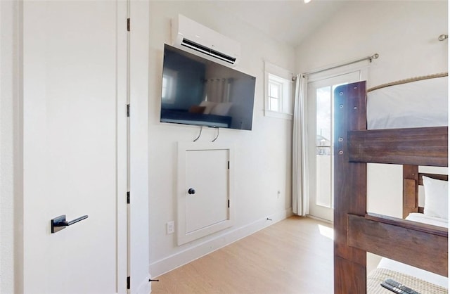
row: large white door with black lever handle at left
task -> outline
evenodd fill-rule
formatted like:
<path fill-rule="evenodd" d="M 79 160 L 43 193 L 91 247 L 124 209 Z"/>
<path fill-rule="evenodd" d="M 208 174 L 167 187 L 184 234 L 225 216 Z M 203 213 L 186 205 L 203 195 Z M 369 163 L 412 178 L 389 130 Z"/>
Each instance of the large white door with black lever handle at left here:
<path fill-rule="evenodd" d="M 121 5 L 23 1 L 24 293 L 126 288 Z"/>

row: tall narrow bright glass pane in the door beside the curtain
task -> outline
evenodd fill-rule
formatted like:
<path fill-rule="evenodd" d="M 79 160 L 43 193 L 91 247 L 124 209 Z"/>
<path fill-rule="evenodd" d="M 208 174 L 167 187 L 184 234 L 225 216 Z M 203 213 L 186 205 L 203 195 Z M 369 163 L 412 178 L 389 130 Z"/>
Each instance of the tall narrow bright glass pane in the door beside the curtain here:
<path fill-rule="evenodd" d="M 332 88 L 316 89 L 316 205 L 332 207 L 331 102 Z"/>

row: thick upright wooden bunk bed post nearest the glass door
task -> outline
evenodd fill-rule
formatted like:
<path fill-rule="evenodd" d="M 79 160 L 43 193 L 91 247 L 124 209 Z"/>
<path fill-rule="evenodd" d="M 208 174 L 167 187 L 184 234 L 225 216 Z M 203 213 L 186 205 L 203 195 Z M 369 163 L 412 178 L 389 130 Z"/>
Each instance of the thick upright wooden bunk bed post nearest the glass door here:
<path fill-rule="evenodd" d="M 366 293 L 366 251 L 347 243 L 348 214 L 366 215 L 366 163 L 349 162 L 348 132 L 366 129 L 366 82 L 334 93 L 335 294 Z"/>

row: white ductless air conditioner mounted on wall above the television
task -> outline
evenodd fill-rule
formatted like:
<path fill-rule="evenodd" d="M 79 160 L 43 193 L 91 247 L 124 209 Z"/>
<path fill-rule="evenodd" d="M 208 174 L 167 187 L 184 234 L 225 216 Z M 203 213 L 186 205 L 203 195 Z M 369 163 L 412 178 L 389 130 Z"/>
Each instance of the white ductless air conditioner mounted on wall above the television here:
<path fill-rule="evenodd" d="M 239 62 L 238 41 L 181 14 L 172 19 L 172 45 L 224 65 L 235 66 Z"/>

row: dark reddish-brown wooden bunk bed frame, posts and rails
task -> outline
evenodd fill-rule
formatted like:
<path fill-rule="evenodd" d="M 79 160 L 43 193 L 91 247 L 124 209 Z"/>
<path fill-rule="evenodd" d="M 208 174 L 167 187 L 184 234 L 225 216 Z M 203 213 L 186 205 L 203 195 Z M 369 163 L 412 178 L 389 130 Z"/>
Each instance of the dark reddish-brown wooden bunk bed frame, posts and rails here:
<path fill-rule="evenodd" d="M 366 293 L 366 253 L 448 276 L 448 230 L 366 212 L 366 164 L 404 165 L 404 216 L 419 212 L 419 165 L 448 166 L 448 127 L 366 129 L 366 82 L 335 89 L 334 288 Z"/>

